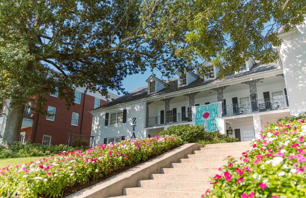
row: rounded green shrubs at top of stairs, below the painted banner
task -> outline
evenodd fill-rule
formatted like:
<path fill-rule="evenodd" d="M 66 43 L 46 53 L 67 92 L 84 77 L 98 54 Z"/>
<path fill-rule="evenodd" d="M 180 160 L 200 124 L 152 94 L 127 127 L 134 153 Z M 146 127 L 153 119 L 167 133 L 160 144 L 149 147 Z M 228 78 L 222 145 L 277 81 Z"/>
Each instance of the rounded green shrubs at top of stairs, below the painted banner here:
<path fill-rule="evenodd" d="M 163 130 L 159 135 L 176 135 L 185 143 L 216 144 L 226 142 L 237 142 L 237 138 L 232 138 L 218 131 L 207 132 L 202 126 L 196 125 L 175 125 Z"/>

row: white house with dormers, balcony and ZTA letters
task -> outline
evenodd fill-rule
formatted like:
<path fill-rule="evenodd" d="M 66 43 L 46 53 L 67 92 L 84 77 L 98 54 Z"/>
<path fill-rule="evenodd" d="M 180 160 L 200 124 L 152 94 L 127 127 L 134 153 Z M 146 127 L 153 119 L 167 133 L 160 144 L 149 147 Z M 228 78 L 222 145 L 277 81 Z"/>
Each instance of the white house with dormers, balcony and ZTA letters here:
<path fill-rule="evenodd" d="M 306 111 L 306 26 L 278 32 L 276 63 L 261 64 L 251 57 L 221 80 L 209 62 L 203 78 L 192 71 L 179 73 L 174 83 L 150 76 L 147 86 L 91 111 L 98 144 L 155 136 L 178 124 L 192 124 L 192 107 L 221 101 L 220 133 L 250 141 L 267 122 Z M 170 88 L 174 86 L 174 88 Z"/>

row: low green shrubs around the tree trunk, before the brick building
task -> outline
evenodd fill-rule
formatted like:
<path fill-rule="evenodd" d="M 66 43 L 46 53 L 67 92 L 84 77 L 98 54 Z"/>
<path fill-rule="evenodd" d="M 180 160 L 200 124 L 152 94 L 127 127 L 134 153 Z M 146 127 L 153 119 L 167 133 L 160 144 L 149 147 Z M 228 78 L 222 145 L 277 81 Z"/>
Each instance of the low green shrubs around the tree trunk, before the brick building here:
<path fill-rule="evenodd" d="M 88 145 L 87 145 L 88 147 Z M 14 142 L 9 146 L 9 149 L 0 147 L 1 158 L 17 158 L 17 157 L 35 157 L 54 155 L 62 151 L 74 151 L 83 149 L 84 147 L 67 147 L 65 145 L 50 145 L 43 146 L 41 144 Z"/>

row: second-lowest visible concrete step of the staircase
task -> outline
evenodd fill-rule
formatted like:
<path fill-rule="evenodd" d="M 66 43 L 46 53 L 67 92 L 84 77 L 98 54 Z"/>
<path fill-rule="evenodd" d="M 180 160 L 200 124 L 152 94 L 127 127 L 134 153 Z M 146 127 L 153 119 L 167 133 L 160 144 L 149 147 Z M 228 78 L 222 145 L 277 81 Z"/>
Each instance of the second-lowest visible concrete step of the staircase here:
<path fill-rule="evenodd" d="M 137 186 L 154 189 L 202 190 L 205 192 L 212 185 L 207 181 L 164 181 L 149 179 L 138 181 Z"/>

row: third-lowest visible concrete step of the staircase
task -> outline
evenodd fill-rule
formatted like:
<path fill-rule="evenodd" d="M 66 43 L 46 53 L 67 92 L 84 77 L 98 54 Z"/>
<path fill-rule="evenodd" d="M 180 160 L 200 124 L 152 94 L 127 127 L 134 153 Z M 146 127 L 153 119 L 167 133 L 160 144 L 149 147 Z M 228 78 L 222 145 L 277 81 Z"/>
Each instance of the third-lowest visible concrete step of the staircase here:
<path fill-rule="evenodd" d="M 202 181 L 206 182 L 214 174 L 151 174 L 153 180 L 171 180 L 171 181 Z"/>

